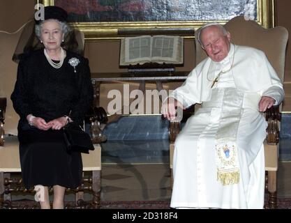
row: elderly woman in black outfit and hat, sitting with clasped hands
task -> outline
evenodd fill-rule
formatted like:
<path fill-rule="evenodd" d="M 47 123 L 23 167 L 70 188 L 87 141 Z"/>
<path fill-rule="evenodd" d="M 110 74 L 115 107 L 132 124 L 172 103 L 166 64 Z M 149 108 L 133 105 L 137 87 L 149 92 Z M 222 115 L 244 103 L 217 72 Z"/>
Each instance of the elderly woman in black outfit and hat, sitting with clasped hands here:
<path fill-rule="evenodd" d="M 53 208 L 64 208 L 65 188 L 81 185 L 82 157 L 66 153 L 62 128 L 82 125 L 93 100 L 88 60 L 61 47 L 66 18 L 64 9 L 45 7 L 45 20 L 36 21 L 44 48 L 22 56 L 11 95 L 20 115 L 22 178 L 26 188 L 40 188 L 41 208 L 50 208 L 48 187 L 54 190 Z"/>

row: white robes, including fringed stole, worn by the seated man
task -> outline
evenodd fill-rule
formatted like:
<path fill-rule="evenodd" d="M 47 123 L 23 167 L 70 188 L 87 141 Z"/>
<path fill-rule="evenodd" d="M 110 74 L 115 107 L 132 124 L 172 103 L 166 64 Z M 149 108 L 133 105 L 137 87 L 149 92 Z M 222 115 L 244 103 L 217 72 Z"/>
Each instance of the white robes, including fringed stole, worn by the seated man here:
<path fill-rule="evenodd" d="M 278 75 L 262 51 L 232 44 L 223 61 L 205 59 L 170 95 L 185 107 L 202 103 L 175 141 L 172 208 L 263 208 L 261 96 L 281 103 Z"/>

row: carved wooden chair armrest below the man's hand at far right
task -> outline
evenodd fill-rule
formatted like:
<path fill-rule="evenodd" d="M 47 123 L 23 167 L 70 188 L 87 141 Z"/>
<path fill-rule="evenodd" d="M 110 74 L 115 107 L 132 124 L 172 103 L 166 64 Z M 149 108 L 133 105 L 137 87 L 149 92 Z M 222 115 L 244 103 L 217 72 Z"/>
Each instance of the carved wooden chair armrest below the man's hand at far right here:
<path fill-rule="evenodd" d="M 265 118 L 268 122 L 267 127 L 267 144 L 278 144 L 279 142 L 279 128 L 278 122 L 281 121 L 281 112 L 278 106 L 270 107 L 265 112 Z"/>

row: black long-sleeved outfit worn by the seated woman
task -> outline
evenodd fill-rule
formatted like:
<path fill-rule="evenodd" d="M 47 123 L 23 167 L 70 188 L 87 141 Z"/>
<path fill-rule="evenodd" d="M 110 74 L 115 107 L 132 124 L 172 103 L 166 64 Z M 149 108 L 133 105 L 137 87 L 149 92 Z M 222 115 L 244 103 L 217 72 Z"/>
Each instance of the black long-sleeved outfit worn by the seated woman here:
<path fill-rule="evenodd" d="M 80 61 L 75 69 L 70 59 Z M 81 154 L 66 153 L 62 130 L 38 130 L 29 125 L 26 117 L 33 114 L 48 122 L 70 114 L 75 123 L 82 124 L 93 100 L 88 60 L 67 52 L 63 66 L 56 69 L 50 66 L 43 50 L 33 52 L 18 65 L 11 100 L 20 115 L 18 139 L 25 187 L 79 186 L 82 180 Z"/>

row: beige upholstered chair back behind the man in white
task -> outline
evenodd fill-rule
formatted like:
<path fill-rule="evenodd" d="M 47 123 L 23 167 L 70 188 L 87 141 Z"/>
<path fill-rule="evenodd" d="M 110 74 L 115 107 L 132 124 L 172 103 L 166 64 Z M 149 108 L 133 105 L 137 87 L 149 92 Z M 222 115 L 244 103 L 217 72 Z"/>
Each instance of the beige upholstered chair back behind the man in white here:
<path fill-rule="evenodd" d="M 287 29 L 281 26 L 264 29 L 253 20 L 245 20 L 244 16 L 234 17 L 228 21 L 225 29 L 230 32 L 232 43 L 261 49 L 283 82 L 285 49 L 288 42 Z M 196 64 L 198 64 L 206 58 L 206 54 L 199 47 L 197 40 L 196 45 Z"/>

